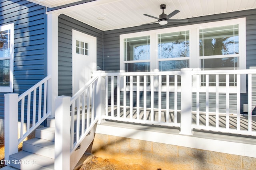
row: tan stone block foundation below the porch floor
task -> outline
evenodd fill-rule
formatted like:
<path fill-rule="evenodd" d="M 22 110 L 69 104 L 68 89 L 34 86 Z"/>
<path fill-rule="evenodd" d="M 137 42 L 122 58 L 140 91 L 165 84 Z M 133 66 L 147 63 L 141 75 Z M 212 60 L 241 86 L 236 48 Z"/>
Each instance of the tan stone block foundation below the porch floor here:
<path fill-rule="evenodd" d="M 148 170 L 255 170 L 256 158 L 96 133 L 91 153 Z"/>

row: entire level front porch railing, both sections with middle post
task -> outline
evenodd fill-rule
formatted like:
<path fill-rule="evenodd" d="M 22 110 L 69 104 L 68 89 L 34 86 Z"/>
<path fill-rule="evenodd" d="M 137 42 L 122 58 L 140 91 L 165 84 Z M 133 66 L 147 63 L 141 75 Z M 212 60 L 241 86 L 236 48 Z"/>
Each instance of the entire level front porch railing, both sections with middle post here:
<path fill-rule="evenodd" d="M 104 73 L 105 115 L 102 118 L 180 127 L 180 134 L 185 135 L 192 135 L 193 129 L 202 129 L 255 136 L 252 88 L 256 84 L 252 83 L 252 74 L 256 74 L 256 70 L 184 68 L 175 72 Z M 214 84 L 209 81 L 209 75 L 214 75 Z M 220 82 L 223 75 L 225 82 Z M 231 76 L 234 77 L 232 84 Z M 248 115 L 240 114 L 242 76 L 248 77 L 248 95 L 242 94 L 247 97 Z M 211 100 L 215 101 L 214 106 Z"/>

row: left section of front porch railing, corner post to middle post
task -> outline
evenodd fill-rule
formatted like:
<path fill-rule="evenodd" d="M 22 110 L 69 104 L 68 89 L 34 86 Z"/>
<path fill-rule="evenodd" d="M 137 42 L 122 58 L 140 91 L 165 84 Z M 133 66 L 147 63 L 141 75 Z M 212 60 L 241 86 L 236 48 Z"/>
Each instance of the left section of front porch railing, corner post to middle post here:
<path fill-rule="evenodd" d="M 180 71 L 118 72 L 105 73 L 102 76 L 105 77 L 106 86 L 105 115 L 102 118 L 180 127 L 178 122 L 180 110 L 177 107 L 178 93 L 181 89 L 178 86 Z M 164 99 L 167 103 L 164 106 L 162 106 L 163 94 L 166 95 Z M 156 98 L 158 101 L 154 101 Z M 173 103 L 172 108 L 169 102 Z M 162 112 L 165 114 L 161 114 Z"/>

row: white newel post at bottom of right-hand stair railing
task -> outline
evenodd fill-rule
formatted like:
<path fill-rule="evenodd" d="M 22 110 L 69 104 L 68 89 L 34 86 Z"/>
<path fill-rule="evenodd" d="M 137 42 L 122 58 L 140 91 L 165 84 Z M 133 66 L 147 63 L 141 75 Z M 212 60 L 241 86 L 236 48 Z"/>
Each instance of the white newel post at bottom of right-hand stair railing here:
<path fill-rule="evenodd" d="M 58 96 L 55 109 L 55 170 L 70 169 L 70 96 Z"/>

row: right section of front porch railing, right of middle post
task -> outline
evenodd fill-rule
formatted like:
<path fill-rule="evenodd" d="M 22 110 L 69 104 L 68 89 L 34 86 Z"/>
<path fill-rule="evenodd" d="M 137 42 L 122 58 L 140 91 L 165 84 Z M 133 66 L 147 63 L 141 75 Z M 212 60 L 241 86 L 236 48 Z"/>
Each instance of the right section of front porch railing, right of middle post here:
<path fill-rule="evenodd" d="M 256 74 L 256 70 L 218 70 L 218 71 L 193 71 L 192 73 L 196 76 L 196 82 L 193 82 L 193 86 L 196 88 L 196 111 L 195 111 L 195 122 L 192 124 L 192 128 L 194 129 L 204 129 L 210 131 L 220 131 L 225 133 L 235 133 L 242 135 L 254 135 L 256 136 L 255 129 L 255 121 L 252 120 L 252 110 L 255 106 L 252 106 L 252 94 L 253 87 L 256 84 L 252 81 L 252 75 Z M 223 86 L 219 86 L 220 76 L 224 76 L 226 82 Z M 215 86 L 210 86 L 209 77 L 212 76 L 213 79 L 216 80 Z M 233 77 L 234 82 L 230 82 L 230 77 Z M 242 82 L 244 84 L 247 83 L 247 104 L 248 104 L 248 114 L 241 115 L 240 114 L 240 89 L 241 89 L 241 77 L 247 76 L 247 82 Z M 200 86 L 201 80 L 200 78 L 205 78 L 204 87 Z M 235 83 L 235 84 L 234 84 Z M 234 86 L 235 85 L 235 86 Z M 205 111 L 200 111 L 200 94 L 205 94 Z M 214 94 L 214 100 L 216 101 L 213 106 L 213 111 L 209 111 L 210 105 L 210 94 Z M 224 103 L 221 102 L 220 95 L 225 98 L 222 99 Z M 233 96 L 234 100 L 231 100 L 230 97 Z M 255 96 L 255 94 L 254 94 Z M 231 102 L 236 102 L 232 103 Z M 202 104 L 202 102 L 201 102 Z M 224 105 L 225 112 L 220 112 L 220 105 Z M 235 106 L 233 110 L 230 109 L 231 105 Z M 202 106 L 202 105 L 201 105 Z M 205 117 L 205 122 L 200 123 L 200 117 L 202 115 Z M 212 120 L 213 119 L 213 120 Z M 209 122 L 211 121 L 212 122 Z M 232 121 L 232 122 L 231 122 Z M 220 125 L 222 123 L 222 125 Z M 254 128 L 252 128 L 252 124 L 254 123 Z"/>

